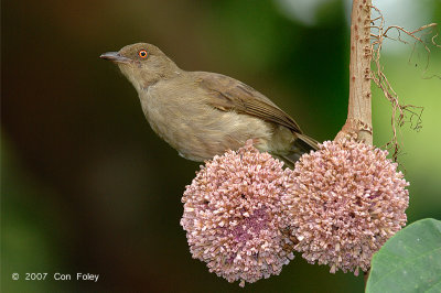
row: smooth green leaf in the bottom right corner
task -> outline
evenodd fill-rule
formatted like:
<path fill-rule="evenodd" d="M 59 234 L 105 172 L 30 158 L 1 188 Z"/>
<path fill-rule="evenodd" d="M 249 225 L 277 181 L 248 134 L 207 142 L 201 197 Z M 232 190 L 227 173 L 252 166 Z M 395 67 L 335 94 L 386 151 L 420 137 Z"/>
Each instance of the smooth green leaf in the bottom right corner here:
<path fill-rule="evenodd" d="M 441 292 L 441 221 L 422 219 L 390 238 L 372 260 L 366 292 Z"/>

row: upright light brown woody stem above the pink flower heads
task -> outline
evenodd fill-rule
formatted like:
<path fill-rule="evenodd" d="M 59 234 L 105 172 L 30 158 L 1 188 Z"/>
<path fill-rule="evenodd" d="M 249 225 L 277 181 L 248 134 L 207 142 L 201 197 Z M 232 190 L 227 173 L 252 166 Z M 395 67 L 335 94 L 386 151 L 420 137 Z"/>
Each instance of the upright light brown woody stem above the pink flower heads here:
<path fill-rule="evenodd" d="M 335 140 L 355 138 L 373 143 L 370 93 L 372 0 L 354 0 L 351 15 L 349 102 L 347 119 Z"/>

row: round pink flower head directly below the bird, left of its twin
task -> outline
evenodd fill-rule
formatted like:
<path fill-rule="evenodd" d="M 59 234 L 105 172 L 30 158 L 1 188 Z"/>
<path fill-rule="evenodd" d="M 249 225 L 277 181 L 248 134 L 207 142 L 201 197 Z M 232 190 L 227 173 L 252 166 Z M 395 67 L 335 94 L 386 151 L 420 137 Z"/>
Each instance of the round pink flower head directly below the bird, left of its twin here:
<path fill-rule="evenodd" d="M 293 259 L 281 198 L 292 172 L 248 142 L 215 156 L 186 186 L 181 225 L 193 258 L 229 282 L 255 282 L 279 274 Z"/>

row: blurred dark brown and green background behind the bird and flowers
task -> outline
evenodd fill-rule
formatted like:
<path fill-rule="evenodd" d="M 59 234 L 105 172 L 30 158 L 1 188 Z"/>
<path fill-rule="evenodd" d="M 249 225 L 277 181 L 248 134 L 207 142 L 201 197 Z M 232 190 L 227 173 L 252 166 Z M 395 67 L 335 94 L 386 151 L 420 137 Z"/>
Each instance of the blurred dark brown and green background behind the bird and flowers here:
<path fill-rule="evenodd" d="M 390 24 L 441 22 L 439 0 L 381 1 Z M 334 0 L 4 0 L 1 7 L 1 292 L 362 292 L 363 276 L 297 256 L 279 276 L 239 289 L 193 260 L 179 225 L 198 164 L 160 140 L 132 86 L 99 59 L 135 42 L 187 70 L 238 78 L 321 141 L 343 126 L 348 2 Z M 394 22 L 395 21 L 395 22 Z M 397 23 L 398 22 L 398 23 Z M 401 131 L 409 221 L 441 218 L 441 80 L 424 51 L 385 43 L 385 72 L 423 128 Z M 429 75 L 441 74 L 432 47 Z M 424 75 L 428 76 L 428 75 Z M 374 90 L 375 144 L 391 137 Z M 12 273 L 20 273 L 12 281 Z M 47 272 L 25 281 L 25 272 Z M 55 272 L 99 274 L 53 281 Z"/>

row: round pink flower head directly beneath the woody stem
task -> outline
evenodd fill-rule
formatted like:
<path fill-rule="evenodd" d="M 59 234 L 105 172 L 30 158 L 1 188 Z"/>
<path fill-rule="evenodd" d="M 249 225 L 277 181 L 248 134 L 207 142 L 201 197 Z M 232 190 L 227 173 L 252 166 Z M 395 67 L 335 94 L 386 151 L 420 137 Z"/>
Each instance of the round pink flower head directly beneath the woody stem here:
<path fill-rule="evenodd" d="M 326 141 L 295 164 L 290 207 L 295 250 L 309 262 L 358 273 L 406 225 L 409 185 L 387 151 Z"/>

